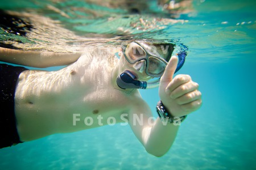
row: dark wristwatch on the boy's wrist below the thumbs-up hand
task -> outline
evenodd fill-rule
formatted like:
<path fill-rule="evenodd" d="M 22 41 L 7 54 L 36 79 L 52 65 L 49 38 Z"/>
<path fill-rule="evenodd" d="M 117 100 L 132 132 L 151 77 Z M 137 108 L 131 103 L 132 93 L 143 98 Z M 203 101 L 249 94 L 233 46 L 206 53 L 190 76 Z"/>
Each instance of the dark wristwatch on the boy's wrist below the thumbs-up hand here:
<path fill-rule="evenodd" d="M 161 118 L 162 121 L 167 120 L 169 123 L 174 125 L 180 125 L 180 123 L 183 122 L 187 117 L 187 115 L 181 117 L 173 117 L 171 113 L 168 113 L 161 100 L 158 101 L 158 104 L 156 105 L 156 112 L 158 113 L 158 116 Z"/>

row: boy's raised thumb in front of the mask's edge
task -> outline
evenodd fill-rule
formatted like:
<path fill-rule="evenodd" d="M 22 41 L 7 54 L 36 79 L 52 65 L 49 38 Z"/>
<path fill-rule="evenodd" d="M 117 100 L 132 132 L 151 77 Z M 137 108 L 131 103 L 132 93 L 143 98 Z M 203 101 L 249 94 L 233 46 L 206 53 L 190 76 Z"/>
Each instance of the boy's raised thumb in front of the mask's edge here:
<path fill-rule="evenodd" d="M 178 60 L 179 59 L 176 56 L 171 57 L 170 61 L 166 66 L 166 70 L 164 70 L 164 73 L 161 78 L 161 82 L 171 82 L 174 76 L 175 70 L 177 68 Z"/>

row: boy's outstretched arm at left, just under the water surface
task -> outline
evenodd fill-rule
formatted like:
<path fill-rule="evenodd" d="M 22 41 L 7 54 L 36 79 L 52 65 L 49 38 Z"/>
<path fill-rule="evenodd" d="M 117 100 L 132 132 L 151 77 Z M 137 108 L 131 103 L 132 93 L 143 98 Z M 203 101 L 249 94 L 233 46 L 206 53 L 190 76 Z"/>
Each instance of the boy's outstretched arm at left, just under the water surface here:
<path fill-rule="evenodd" d="M 69 65 L 80 56 L 81 53 L 32 52 L 0 47 L 0 61 L 38 68 Z"/>

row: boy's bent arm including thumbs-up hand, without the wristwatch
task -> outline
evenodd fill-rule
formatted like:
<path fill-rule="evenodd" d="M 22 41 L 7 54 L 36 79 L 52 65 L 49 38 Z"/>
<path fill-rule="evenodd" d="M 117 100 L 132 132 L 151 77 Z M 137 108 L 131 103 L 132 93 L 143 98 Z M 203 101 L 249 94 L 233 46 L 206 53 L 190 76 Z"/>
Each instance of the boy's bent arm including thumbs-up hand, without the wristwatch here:
<path fill-rule="evenodd" d="M 201 92 L 198 84 L 189 75 L 177 75 L 173 78 L 177 57 L 171 57 L 160 80 L 159 96 L 164 107 L 172 117 L 182 117 L 201 107 Z M 143 121 L 138 124 L 136 118 Z M 143 100 L 137 101 L 131 109 L 128 120 L 134 134 L 142 142 L 147 152 L 155 156 L 164 155 L 175 140 L 179 124 L 162 122 L 157 118 L 154 124 L 151 120 L 150 107 Z"/>

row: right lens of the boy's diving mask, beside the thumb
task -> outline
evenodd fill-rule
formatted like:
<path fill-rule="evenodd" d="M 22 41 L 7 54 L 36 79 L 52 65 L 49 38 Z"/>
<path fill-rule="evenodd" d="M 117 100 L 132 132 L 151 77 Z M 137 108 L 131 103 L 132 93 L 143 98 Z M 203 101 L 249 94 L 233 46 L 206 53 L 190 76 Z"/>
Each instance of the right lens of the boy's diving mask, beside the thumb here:
<path fill-rule="evenodd" d="M 164 69 L 166 69 L 166 63 L 155 57 L 149 57 L 148 61 L 148 74 L 155 77 L 162 76 Z"/>

